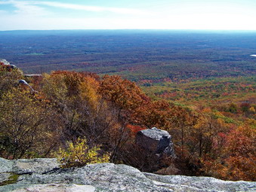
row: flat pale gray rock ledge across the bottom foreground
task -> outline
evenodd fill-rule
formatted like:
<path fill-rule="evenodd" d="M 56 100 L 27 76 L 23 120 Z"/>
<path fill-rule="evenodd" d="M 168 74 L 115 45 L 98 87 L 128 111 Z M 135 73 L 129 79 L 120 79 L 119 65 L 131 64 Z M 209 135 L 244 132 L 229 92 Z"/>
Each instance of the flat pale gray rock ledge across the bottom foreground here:
<path fill-rule="evenodd" d="M 156 175 L 113 163 L 60 169 L 56 159 L 0 158 L 0 192 L 256 191 L 256 182 Z"/>

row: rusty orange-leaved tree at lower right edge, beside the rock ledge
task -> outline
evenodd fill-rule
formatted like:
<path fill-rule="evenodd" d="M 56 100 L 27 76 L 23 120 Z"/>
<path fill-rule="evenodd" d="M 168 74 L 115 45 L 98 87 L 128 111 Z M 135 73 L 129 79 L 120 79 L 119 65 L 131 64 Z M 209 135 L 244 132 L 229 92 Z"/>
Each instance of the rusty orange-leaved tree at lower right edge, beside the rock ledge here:
<path fill-rule="evenodd" d="M 255 125 L 255 120 L 251 122 Z M 225 136 L 222 163 L 217 165 L 217 175 L 229 180 L 256 181 L 256 131 L 245 122 Z"/>

